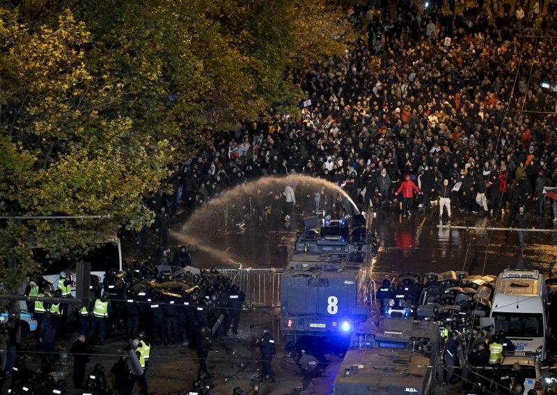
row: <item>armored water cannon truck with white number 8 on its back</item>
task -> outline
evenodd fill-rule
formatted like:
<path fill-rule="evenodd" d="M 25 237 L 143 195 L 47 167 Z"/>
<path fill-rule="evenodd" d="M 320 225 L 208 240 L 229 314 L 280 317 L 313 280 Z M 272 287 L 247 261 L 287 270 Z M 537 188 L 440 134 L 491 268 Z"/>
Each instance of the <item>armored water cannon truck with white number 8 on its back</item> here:
<path fill-rule="evenodd" d="M 296 241 L 281 280 L 281 329 L 291 346 L 297 337 L 348 337 L 370 312 L 366 218 L 324 218 Z"/>

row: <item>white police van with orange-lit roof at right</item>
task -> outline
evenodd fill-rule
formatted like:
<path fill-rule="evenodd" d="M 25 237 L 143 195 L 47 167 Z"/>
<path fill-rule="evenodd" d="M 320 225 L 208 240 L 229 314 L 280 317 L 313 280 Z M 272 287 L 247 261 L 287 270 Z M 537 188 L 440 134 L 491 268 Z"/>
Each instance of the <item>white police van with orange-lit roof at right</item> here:
<path fill-rule="evenodd" d="M 539 271 L 505 269 L 495 284 L 492 309 L 496 331 L 504 330 L 515 355 L 546 357 L 549 305 L 544 276 Z"/>

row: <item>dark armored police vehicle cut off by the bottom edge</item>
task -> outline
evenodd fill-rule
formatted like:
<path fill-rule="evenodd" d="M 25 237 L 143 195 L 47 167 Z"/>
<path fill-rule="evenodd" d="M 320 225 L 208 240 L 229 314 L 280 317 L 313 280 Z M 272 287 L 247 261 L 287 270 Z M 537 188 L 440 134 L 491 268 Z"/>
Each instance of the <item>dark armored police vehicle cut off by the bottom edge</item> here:
<path fill-rule="evenodd" d="M 386 309 L 354 328 L 334 380 L 335 395 L 430 394 L 439 356 L 439 327 L 409 311 Z"/>

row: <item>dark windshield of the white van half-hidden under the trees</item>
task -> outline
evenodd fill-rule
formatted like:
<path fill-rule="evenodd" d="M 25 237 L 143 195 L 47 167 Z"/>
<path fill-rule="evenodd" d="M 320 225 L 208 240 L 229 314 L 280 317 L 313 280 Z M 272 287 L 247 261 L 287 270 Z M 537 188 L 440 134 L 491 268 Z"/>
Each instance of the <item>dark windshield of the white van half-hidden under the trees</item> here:
<path fill-rule="evenodd" d="M 52 259 L 47 257 L 44 248 L 33 248 L 33 259 L 42 265 L 42 275 L 58 275 L 61 271 L 75 270 L 78 261 L 91 263 L 91 271 L 119 271 L 120 252 L 118 243 L 100 243 L 96 248 L 83 255 Z"/>

